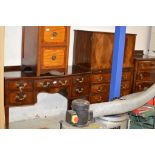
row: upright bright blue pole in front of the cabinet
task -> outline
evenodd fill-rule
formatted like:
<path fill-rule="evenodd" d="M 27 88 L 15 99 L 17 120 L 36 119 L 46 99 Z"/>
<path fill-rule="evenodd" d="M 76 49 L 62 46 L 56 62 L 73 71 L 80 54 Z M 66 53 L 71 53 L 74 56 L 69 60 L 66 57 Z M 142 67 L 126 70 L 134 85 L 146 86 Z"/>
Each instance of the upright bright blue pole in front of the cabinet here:
<path fill-rule="evenodd" d="M 116 26 L 109 100 L 120 97 L 126 26 Z"/>

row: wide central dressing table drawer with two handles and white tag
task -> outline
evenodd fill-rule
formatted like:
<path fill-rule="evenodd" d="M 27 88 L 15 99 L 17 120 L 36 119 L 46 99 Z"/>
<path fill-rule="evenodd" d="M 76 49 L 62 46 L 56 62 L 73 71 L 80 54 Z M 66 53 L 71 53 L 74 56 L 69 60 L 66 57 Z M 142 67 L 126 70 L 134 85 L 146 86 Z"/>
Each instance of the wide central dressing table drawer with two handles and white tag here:
<path fill-rule="evenodd" d="M 42 79 L 35 80 L 35 89 L 49 89 L 56 87 L 66 87 L 70 84 L 69 78 L 57 78 L 57 79 Z"/>

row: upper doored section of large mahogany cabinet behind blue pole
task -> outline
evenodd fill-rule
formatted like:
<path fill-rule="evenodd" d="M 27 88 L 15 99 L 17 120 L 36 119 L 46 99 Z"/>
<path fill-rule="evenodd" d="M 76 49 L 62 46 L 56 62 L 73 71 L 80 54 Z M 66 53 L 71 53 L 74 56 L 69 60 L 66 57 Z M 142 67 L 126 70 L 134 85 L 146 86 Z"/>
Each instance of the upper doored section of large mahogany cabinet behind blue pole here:
<path fill-rule="evenodd" d="M 126 34 L 124 68 L 133 67 L 135 34 Z M 74 34 L 73 64 L 92 71 L 111 69 L 114 34 L 76 30 Z"/>

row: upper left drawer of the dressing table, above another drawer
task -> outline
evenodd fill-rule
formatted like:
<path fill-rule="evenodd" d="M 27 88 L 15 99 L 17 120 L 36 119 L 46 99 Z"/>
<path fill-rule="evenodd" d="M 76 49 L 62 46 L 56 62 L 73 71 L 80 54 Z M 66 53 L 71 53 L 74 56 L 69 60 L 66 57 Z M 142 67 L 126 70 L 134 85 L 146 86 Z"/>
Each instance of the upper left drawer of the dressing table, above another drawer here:
<path fill-rule="evenodd" d="M 9 80 L 6 82 L 7 89 L 9 90 L 32 90 L 33 81 L 31 80 Z"/>

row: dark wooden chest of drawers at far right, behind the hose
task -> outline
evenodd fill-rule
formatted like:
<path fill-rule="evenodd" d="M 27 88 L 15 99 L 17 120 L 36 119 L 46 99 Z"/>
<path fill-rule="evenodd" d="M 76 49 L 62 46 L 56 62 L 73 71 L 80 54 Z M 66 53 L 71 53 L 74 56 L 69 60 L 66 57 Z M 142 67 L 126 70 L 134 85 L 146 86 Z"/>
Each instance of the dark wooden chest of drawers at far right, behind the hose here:
<path fill-rule="evenodd" d="M 135 57 L 133 92 L 149 88 L 155 82 L 155 58 L 148 56 Z"/>

